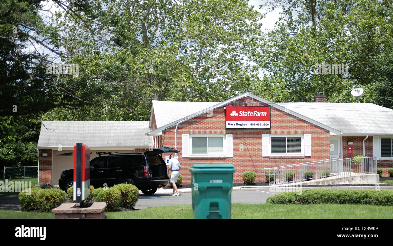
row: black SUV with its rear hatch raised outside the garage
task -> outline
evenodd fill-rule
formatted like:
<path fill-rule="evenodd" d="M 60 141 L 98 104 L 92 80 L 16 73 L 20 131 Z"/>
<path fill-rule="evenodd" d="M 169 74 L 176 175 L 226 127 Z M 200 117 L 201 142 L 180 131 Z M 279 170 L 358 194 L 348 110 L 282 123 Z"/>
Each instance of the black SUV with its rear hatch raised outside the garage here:
<path fill-rule="evenodd" d="M 90 160 L 90 185 L 110 187 L 114 184 L 133 184 L 146 195 L 169 182 L 162 153 L 179 153 L 174 148 L 156 148 L 145 153 L 116 153 Z M 67 191 L 73 186 L 73 169 L 62 171 L 59 186 Z"/>

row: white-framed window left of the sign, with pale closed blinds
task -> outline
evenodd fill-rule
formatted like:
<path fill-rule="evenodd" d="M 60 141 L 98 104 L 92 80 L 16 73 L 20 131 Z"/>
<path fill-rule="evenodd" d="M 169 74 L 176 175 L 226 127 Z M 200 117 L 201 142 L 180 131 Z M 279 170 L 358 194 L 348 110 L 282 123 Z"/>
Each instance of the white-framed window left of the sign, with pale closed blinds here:
<path fill-rule="evenodd" d="M 191 155 L 224 154 L 224 136 L 191 136 Z"/>

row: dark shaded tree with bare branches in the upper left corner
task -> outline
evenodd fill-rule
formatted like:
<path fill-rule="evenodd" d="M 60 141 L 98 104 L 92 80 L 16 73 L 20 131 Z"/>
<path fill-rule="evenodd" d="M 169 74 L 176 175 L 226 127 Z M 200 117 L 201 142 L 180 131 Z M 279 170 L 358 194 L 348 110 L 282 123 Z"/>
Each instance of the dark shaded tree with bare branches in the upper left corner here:
<path fill-rule="evenodd" d="M 48 72 L 48 66 L 69 61 L 60 45 L 61 29 L 44 18 L 48 4 L 41 0 L 0 3 L 0 116 L 75 108 L 91 95 L 83 80 Z"/>

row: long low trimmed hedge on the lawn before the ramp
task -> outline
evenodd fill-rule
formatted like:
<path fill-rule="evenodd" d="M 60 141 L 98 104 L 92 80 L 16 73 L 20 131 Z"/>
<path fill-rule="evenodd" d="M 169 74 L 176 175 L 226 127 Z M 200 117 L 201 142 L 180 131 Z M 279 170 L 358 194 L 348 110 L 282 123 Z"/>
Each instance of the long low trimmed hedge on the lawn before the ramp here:
<path fill-rule="evenodd" d="M 296 192 L 284 192 L 268 197 L 266 203 L 272 204 L 369 204 L 393 205 L 391 190 L 303 190 L 300 195 Z"/>

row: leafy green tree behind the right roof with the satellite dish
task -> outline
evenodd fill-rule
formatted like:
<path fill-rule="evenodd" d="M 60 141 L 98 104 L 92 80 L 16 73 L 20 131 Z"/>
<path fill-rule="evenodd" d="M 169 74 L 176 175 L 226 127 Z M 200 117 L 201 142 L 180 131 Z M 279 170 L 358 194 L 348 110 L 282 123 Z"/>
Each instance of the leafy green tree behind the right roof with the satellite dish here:
<path fill-rule="evenodd" d="M 321 91 L 330 101 L 354 102 L 354 87 L 365 89 L 366 102 L 378 97 L 378 61 L 393 44 L 391 0 L 269 0 L 263 7 L 283 13 L 258 49 L 264 87 L 282 95 L 273 99 L 312 101 Z M 348 74 L 318 74 L 322 63 L 347 64 Z"/>

